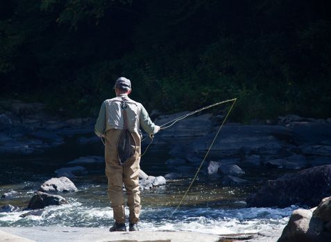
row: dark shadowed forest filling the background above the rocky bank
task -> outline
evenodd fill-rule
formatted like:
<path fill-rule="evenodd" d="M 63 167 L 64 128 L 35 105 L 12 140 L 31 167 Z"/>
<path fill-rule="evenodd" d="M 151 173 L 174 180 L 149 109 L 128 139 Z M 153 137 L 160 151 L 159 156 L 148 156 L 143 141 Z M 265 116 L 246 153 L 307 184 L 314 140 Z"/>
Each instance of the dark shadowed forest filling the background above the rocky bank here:
<path fill-rule="evenodd" d="M 241 122 L 331 116 L 323 0 L 0 0 L 0 100 L 96 115 L 119 76 L 151 111 L 238 98 Z"/>

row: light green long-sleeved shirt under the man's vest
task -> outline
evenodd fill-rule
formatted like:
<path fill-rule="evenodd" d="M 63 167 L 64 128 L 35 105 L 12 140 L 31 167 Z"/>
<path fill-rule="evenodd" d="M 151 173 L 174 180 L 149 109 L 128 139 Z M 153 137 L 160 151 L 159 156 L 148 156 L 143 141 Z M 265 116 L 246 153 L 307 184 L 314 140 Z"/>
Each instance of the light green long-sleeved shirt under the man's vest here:
<path fill-rule="evenodd" d="M 114 97 L 112 100 L 114 100 L 116 98 L 117 97 Z M 96 124 L 94 126 L 94 132 L 99 137 L 101 135 L 105 134 L 105 132 L 108 129 L 110 129 L 109 125 L 107 124 L 108 120 L 107 120 L 107 106 L 106 106 L 106 105 L 109 105 L 109 103 L 110 103 L 109 101 L 111 101 L 111 100 L 105 100 L 101 104 L 101 109 L 99 111 L 99 116 L 98 116 L 98 119 L 96 120 Z M 140 109 L 140 112 L 138 113 L 140 127 L 142 127 L 142 129 L 144 129 L 144 131 L 146 131 L 146 133 L 148 133 L 148 134 L 157 133 L 158 128 L 151 121 L 151 118 L 149 118 L 149 115 L 148 115 L 146 109 L 144 108 L 144 106 L 142 106 L 142 104 L 140 104 L 139 102 L 135 102 L 135 103 L 139 106 L 139 109 Z M 114 127 L 114 124 L 112 124 L 112 128 L 122 129 L 122 127 L 120 127 L 120 126 L 117 127 L 116 125 Z"/>

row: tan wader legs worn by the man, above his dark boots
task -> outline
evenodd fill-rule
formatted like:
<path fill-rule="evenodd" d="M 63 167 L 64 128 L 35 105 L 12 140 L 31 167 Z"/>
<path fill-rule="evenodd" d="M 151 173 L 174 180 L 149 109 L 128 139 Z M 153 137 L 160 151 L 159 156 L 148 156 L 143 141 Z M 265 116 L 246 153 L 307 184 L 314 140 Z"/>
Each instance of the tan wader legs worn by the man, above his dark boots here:
<path fill-rule="evenodd" d="M 125 223 L 123 183 L 128 196 L 130 223 L 137 223 L 140 214 L 139 193 L 139 162 L 140 162 L 140 136 L 133 132 L 135 140 L 135 153 L 124 165 L 119 164 L 117 145 L 121 129 L 109 129 L 105 133 L 105 174 L 108 178 L 108 196 L 114 212 L 116 223 Z"/>

